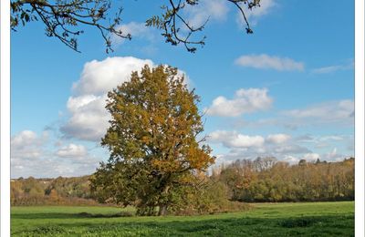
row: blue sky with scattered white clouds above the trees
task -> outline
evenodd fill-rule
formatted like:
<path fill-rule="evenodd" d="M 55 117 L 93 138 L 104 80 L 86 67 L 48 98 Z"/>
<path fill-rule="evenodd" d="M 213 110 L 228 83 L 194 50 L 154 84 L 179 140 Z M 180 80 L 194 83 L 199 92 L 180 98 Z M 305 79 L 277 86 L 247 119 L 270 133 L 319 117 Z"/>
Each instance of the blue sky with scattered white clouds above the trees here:
<path fill-rule="evenodd" d="M 13 178 L 90 174 L 107 160 L 99 147 L 108 125 L 105 93 L 145 63 L 189 77 L 218 164 L 353 156 L 352 1 L 262 0 L 249 14 L 255 33 L 248 36 L 232 5 L 202 0 L 208 10 L 186 12 L 197 22 L 210 15 L 206 45 L 195 54 L 143 26 L 157 2 L 123 5 L 120 27 L 133 39 L 117 40 L 109 55 L 91 28 L 79 38 L 81 54 L 45 36 L 39 23 L 12 33 Z"/>

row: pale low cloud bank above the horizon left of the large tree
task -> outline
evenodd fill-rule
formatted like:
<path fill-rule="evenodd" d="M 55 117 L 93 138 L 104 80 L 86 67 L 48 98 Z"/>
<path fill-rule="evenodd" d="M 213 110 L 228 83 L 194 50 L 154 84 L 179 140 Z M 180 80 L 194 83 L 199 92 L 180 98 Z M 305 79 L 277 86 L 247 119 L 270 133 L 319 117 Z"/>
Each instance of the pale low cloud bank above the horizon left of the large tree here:
<path fill-rule="evenodd" d="M 47 132 L 39 135 L 24 130 L 14 135 L 11 139 L 12 178 L 79 176 L 90 174 L 99 166 L 101 157 L 89 154 L 87 147 L 74 143 L 58 147 L 61 143 Z"/>

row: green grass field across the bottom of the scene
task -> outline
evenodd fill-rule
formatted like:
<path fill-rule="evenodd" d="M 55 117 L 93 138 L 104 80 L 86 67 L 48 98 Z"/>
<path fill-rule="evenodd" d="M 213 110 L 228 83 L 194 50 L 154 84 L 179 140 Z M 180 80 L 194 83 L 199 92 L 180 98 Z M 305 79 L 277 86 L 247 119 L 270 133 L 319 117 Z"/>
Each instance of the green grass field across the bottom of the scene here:
<path fill-rule="evenodd" d="M 12 236 L 354 236 L 354 202 L 260 203 L 205 216 L 115 217 L 110 207 L 13 207 Z M 123 210 L 132 211 L 132 210 Z"/>

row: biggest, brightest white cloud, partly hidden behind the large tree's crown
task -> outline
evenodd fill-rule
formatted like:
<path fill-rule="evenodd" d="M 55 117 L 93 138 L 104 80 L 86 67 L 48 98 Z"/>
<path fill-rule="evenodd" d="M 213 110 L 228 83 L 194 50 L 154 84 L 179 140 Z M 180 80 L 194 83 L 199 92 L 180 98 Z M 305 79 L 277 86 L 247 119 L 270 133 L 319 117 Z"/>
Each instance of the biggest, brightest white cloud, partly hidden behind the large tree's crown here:
<path fill-rule="evenodd" d="M 60 128 L 65 137 L 99 142 L 110 120 L 105 109 L 107 93 L 129 81 L 131 72 L 141 71 L 144 65 L 155 67 L 151 60 L 136 57 L 107 57 L 86 63 L 68 98 L 69 117 Z M 179 70 L 178 77 L 183 76 L 189 86 L 189 78 Z"/>

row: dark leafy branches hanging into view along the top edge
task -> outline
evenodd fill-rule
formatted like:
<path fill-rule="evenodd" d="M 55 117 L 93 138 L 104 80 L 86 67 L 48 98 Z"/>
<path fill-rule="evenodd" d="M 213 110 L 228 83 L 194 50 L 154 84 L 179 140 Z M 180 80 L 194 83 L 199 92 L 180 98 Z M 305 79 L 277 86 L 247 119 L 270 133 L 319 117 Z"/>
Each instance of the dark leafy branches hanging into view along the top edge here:
<path fill-rule="evenodd" d="M 245 10 L 260 6 L 260 0 L 225 0 L 235 5 L 245 20 L 247 34 L 252 34 Z M 107 53 L 112 50 L 111 36 L 130 39 L 130 33 L 122 32 L 118 27 L 121 22 L 122 7 L 119 1 L 110 0 L 13 0 L 11 1 L 11 28 L 16 30 L 19 24 L 30 21 L 41 21 L 46 26 L 46 35 L 56 37 L 63 44 L 78 51 L 78 36 L 84 33 L 87 26 L 97 28 L 105 41 Z M 162 5 L 162 13 L 152 15 L 145 21 L 161 31 L 166 43 L 172 46 L 183 44 L 187 51 L 195 52 L 196 46 L 205 44 L 205 36 L 196 38 L 195 33 L 203 31 L 204 26 L 193 26 L 189 23 L 183 9 L 196 6 L 199 0 L 169 0 Z M 110 16 L 111 14 L 115 14 Z M 184 30 L 182 30 L 184 29 Z"/>

